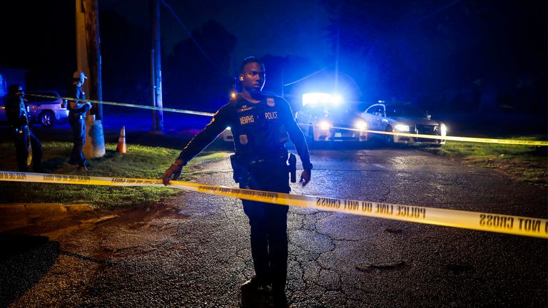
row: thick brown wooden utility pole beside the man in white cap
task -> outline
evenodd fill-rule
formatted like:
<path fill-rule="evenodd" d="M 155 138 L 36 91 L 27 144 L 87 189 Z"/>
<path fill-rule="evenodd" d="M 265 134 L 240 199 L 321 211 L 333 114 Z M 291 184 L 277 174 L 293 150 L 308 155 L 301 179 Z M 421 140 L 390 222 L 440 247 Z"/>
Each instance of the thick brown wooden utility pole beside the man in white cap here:
<path fill-rule="evenodd" d="M 87 98 L 101 101 L 101 41 L 99 39 L 98 0 L 76 0 L 76 62 L 78 71 L 88 74 L 83 91 Z M 93 103 L 93 114 L 86 116 L 86 143 L 83 153 L 86 158 L 101 158 L 105 155 L 103 134 L 103 106 Z"/>

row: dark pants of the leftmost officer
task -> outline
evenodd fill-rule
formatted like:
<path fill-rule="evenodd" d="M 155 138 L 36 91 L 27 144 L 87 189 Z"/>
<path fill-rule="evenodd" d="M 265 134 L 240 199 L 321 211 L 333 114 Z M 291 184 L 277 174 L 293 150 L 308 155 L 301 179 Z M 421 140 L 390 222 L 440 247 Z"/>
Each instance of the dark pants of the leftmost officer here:
<path fill-rule="evenodd" d="M 26 158 L 29 156 L 29 137 L 32 148 L 32 170 L 41 172 L 42 168 L 42 145 L 38 138 L 32 133 L 29 134 L 29 128 L 19 128 L 18 132 L 14 132 L 15 153 L 17 156 L 17 168 L 21 172 L 29 172 L 26 165 Z"/>

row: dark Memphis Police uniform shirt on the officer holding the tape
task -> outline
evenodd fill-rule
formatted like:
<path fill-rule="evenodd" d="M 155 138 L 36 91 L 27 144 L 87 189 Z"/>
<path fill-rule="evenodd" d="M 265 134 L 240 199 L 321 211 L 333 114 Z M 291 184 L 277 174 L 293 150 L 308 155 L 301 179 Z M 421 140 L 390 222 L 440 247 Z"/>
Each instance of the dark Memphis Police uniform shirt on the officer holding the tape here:
<path fill-rule="evenodd" d="M 271 93 L 250 94 L 260 102 L 250 103 L 237 96 L 221 107 L 213 120 L 181 151 L 178 159 L 188 163 L 225 128 L 230 127 L 235 153 L 241 158 L 273 158 L 290 138 L 303 168 L 312 169 L 303 131 L 295 122 L 289 103 Z"/>

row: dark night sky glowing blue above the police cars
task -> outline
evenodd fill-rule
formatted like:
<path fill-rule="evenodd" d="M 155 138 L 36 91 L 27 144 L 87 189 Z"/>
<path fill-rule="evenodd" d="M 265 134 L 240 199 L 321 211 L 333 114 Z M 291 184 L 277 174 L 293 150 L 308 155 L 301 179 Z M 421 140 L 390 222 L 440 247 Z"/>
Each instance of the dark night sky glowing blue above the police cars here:
<path fill-rule="evenodd" d="M 76 66 L 73 1 L 1 6 L 0 67 L 28 70 L 29 88 L 64 88 Z M 99 8 L 103 96 L 146 103 L 148 0 Z M 265 58 L 270 91 L 288 97 L 334 91 L 338 76 L 356 101 L 546 114 L 546 1 L 164 0 L 161 19 L 167 106 L 185 91 L 215 109 L 236 64 L 254 55 Z"/>

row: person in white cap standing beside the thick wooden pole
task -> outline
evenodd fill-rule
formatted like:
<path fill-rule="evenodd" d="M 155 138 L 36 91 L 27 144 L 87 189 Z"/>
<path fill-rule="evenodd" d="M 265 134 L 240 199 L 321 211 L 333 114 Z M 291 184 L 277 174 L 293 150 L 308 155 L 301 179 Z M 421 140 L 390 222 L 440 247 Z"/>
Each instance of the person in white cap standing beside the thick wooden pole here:
<path fill-rule="evenodd" d="M 85 99 L 86 93 L 82 91 L 84 81 L 88 77 L 83 71 L 75 71 L 72 74 L 72 84 L 68 88 L 67 96 L 70 98 Z M 68 101 L 68 123 L 71 125 L 73 146 L 71 158 L 68 163 L 78 165 L 78 171 L 86 171 L 87 160 L 83 155 L 83 144 L 86 142 L 86 122 L 85 117 L 91 103 L 84 101 Z"/>

